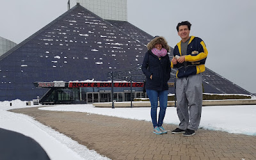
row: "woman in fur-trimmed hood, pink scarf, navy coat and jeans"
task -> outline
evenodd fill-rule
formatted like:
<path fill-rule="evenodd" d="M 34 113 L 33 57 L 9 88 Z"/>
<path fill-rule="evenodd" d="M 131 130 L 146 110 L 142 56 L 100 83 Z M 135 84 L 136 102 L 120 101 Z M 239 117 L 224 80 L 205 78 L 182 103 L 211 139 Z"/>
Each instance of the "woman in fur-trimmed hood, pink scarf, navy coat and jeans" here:
<path fill-rule="evenodd" d="M 147 77 L 146 92 L 151 104 L 151 118 L 155 134 L 167 133 L 163 128 L 163 120 L 168 100 L 168 80 L 170 79 L 170 58 L 167 52 L 170 47 L 163 36 L 155 36 L 147 45 L 142 71 Z M 157 106 L 159 99 L 159 116 L 157 122 Z"/>

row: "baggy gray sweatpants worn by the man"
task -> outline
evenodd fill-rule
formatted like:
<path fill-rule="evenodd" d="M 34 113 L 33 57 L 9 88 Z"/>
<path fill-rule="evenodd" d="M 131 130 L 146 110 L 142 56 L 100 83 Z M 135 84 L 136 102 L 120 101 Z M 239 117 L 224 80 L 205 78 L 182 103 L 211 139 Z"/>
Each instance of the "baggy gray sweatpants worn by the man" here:
<path fill-rule="evenodd" d="M 202 92 L 202 74 L 176 79 L 179 129 L 198 129 L 202 113 Z"/>

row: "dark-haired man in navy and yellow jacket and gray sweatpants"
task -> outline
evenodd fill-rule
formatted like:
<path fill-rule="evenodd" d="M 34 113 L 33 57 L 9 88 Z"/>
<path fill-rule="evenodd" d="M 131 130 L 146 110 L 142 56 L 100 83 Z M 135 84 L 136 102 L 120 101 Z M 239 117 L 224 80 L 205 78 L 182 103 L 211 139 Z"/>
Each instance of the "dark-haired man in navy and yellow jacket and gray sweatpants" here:
<path fill-rule="evenodd" d="M 202 72 L 208 51 L 204 41 L 189 36 L 191 24 L 188 21 L 177 25 L 181 41 L 175 46 L 171 67 L 177 68 L 176 96 L 179 127 L 172 133 L 193 136 L 198 129 L 202 113 Z"/>

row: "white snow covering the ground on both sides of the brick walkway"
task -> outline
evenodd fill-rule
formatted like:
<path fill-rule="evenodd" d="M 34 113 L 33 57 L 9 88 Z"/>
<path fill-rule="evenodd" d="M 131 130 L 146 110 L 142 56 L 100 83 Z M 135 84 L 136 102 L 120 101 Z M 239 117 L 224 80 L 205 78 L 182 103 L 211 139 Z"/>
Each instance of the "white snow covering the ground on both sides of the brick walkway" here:
<path fill-rule="evenodd" d="M 8 109 L 28 108 L 26 102 L 13 100 L 0 102 L 0 127 L 30 136 L 40 143 L 51 159 L 108 159 L 94 150 L 71 140 L 64 134 L 40 124 L 32 117 L 11 113 Z M 151 121 L 150 108 L 95 108 L 92 104 L 56 105 L 40 109 L 51 111 L 77 111 Z M 256 136 L 256 105 L 205 106 L 200 128 Z M 176 108 L 167 108 L 164 124 L 179 124 Z"/>

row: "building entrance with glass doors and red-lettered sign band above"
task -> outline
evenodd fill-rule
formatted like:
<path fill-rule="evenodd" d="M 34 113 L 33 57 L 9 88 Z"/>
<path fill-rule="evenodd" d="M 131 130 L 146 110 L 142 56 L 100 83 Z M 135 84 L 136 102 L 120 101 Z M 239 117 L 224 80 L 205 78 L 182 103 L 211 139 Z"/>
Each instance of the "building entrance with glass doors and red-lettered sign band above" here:
<path fill-rule="evenodd" d="M 37 87 L 51 88 L 40 99 L 42 104 L 92 104 L 94 102 L 111 102 L 111 83 L 35 83 Z M 123 102 L 131 100 L 128 87 L 130 83 L 114 83 L 113 100 Z M 143 83 L 133 83 L 132 98 L 146 96 Z M 108 87 L 107 87 L 108 86 Z M 136 91 L 137 90 L 137 91 Z"/>

